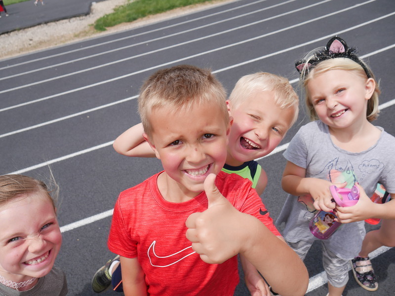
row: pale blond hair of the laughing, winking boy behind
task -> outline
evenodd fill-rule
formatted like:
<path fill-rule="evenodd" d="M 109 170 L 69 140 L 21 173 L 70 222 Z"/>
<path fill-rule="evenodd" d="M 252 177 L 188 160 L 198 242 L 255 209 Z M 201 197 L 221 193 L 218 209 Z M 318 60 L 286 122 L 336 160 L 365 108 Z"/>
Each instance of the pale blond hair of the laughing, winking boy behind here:
<path fill-rule="evenodd" d="M 237 108 L 257 91 L 273 91 L 275 103 L 280 109 L 294 109 L 291 125 L 295 123 L 299 113 L 299 97 L 285 77 L 266 72 L 242 76 L 229 96 L 229 101 L 233 108 Z"/>

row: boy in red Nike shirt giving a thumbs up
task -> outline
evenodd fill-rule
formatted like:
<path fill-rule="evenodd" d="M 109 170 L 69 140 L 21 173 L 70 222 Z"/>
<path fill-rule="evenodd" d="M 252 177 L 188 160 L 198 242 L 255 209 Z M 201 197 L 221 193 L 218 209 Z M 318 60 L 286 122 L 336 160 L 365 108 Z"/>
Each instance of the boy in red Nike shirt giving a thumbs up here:
<path fill-rule="evenodd" d="M 306 292 L 306 267 L 276 237 L 250 182 L 221 172 L 231 127 L 225 96 L 210 71 L 193 66 L 160 70 L 141 88 L 144 138 L 164 171 L 121 192 L 115 205 L 108 247 L 120 256 L 126 296 L 232 296 L 237 253 L 281 295 Z M 201 235 L 207 217 L 215 222 Z"/>

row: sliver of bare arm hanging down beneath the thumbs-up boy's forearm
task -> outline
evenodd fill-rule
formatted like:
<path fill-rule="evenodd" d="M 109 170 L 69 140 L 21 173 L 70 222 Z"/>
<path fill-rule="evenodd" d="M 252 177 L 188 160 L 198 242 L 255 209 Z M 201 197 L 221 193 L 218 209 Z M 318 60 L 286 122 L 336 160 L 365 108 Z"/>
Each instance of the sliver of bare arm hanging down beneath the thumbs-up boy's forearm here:
<path fill-rule="evenodd" d="M 271 296 L 269 286 L 259 274 L 258 270 L 244 256 L 240 255 L 240 262 L 244 271 L 244 281 L 251 296 Z"/>

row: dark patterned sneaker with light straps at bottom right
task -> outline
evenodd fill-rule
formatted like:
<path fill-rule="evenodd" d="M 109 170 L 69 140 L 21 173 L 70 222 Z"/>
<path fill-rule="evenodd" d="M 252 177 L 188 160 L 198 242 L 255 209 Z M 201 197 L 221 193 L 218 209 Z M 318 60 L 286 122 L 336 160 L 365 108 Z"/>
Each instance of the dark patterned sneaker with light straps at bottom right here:
<path fill-rule="evenodd" d="M 359 286 L 367 291 L 376 291 L 379 284 L 369 257 L 356 257 L 350 261 L 351 269 L 354 273 L 354 278 Z"/>

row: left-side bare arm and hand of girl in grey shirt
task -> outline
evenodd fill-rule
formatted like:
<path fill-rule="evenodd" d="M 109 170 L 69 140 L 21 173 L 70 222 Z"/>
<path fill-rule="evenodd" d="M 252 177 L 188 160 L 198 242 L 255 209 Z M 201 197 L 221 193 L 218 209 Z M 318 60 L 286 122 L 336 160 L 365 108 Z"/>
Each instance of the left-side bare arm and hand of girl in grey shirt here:
<path fill-rule="evenodd" d="M 310 194 L 314 199 L 316 210 L 331 212 L 335 208 L 336 204 L 332 201 L 332 194 L 329 190 L 330 185 L 333 184 L 318 178 L 306 178 L 306 169 L 290 161 L 287 161 L 285 165 L 281 185 L 284 191 L 292 195 L 301 196 Z M 347 184 L 336 185 L 342 188 Z"/>

